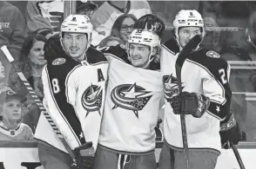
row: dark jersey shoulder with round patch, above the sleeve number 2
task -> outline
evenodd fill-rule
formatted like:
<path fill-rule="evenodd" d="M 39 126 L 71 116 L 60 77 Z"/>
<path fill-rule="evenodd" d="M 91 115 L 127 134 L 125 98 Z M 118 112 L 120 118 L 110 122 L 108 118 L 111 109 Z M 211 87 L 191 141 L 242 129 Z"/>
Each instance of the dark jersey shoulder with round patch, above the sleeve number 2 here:
<path fill-rule="evenodd" d="M 192 52 L 187 59 L 198 63 L 201 67 L 207 68 L 213 75 L 216 75 L 216 73 L 219 74 L 220 68 L 227 70 L 228 67 L 226 60 L 220 57 L 217 52 L 209 49 L 196 50 Z"/>

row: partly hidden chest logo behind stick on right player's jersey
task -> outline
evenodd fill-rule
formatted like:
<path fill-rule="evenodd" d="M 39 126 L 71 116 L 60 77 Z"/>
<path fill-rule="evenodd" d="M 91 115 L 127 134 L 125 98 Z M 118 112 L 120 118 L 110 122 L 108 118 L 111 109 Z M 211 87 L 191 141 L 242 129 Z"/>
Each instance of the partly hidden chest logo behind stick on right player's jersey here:
<path fill-rule="evenodd" d="M 179 94 L 178 82 L 176 77 L 173 77 L 172 75 L 164 75 L 163 82 L 166 100 L 171 99 L 173 96 Z"/>

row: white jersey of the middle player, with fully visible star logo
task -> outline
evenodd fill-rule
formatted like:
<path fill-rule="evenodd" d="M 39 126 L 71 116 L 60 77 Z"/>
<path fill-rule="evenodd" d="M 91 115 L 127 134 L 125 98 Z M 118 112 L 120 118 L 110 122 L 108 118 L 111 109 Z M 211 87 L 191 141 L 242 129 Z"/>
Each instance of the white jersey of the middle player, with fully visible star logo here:
<path fill-rule="evenodd" d="M 154 127 L 164 96 L 161 74 L 131 66 L 121 52 L 105 54 L 110 64 L 109 81 L 98 143 L 123 153 L 146 153 L 156 144 Z"/>

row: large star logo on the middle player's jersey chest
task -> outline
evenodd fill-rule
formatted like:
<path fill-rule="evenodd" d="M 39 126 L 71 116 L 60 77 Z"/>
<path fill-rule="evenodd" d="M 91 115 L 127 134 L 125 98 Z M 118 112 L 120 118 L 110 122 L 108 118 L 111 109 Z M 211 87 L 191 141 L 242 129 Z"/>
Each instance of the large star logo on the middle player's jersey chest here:
<path fill-rule="evenodd" d="M 111 100 L 115 103 L 112 109 L 122 107 L 133 111 L 138 117 L 138 111 L 145 107 L 151 97 L 150 91 L 146 91 L 145 88 L 136 85 L 136 83 L 119 85 L 111 92 Z"/>

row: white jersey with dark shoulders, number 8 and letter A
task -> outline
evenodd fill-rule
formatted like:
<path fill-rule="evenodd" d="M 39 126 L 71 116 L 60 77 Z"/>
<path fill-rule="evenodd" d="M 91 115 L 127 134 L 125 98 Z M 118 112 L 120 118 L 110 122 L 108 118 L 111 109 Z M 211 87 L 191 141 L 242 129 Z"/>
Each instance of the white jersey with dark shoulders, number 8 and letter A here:
<path fill-rule="evenodd" d="M 56 58 L 42 73 L 45 107 L 71 149 L 84 141 L 97 147 L 103 115 L 108 62 L 96 49 L 89 48 L 86 56 L 87 62 Z M 67 153 L 43 114 L 35 137 Z"/>

